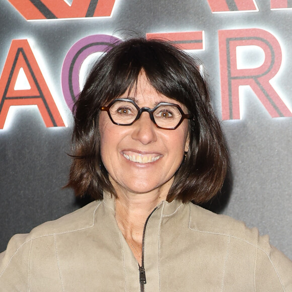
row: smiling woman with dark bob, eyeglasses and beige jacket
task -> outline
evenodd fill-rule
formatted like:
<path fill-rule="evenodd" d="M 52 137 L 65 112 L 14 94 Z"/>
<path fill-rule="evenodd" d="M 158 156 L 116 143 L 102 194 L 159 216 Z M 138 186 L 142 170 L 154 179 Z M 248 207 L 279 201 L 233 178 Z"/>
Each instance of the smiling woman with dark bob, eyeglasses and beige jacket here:
<path fill-rule="evenodd" d="M 256 229 L 191 203 L 228 155 L 199 65 L 132 39 L 95 64 L 75 105 L 68 186 L 95 201 L 16 235 L 5 291 L 292 291 L 292 263 Z"/>

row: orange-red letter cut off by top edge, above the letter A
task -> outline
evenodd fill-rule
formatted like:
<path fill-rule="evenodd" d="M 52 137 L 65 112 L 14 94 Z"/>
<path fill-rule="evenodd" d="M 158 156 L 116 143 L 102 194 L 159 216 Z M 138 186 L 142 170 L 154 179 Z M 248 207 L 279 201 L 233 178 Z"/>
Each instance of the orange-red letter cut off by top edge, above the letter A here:
<path fill-rule="evenodd" d="M 69 6 L 64 0 L 9 0 L 26 20 L 110 17 L 115 0 L 74 0 Z"/>

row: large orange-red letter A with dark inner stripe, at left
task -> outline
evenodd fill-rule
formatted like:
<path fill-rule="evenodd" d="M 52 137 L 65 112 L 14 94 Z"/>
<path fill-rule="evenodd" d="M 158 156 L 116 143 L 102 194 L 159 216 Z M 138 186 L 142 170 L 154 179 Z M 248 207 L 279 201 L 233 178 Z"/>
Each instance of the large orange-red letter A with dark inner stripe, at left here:
<path fill-rule="evenodd" d="M 15 90 L 19 70 L 23 68 L 30 84 L 28 90 Z M 37 105 L 47 127 L 64 126 L 58 108 L 42 76 L 27 40 L 13 40 L 0 78 L 0 129 L 10 106 Z"/>

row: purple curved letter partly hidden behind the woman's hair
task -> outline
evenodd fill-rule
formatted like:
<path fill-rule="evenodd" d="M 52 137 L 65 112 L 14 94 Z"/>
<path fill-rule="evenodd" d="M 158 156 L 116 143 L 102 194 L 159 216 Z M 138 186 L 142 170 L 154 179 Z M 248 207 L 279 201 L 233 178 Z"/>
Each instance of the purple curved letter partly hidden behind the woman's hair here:
<path fill-rule="evenodd" d="M 80 93 L 79 71 L 84 60 L 92 53 L 105 52 L 120 42 L 110 35 L 92 35 L 82 38 L 69 49 L 62 65 L 61 84 L 67 106 L 72 111 Z"/>

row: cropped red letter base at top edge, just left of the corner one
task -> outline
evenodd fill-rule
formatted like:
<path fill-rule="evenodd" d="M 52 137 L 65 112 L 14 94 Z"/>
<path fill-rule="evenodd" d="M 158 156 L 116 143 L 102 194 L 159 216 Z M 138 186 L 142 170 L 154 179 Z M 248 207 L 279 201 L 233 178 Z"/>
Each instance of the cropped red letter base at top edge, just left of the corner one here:
<path fill-rule="evenodd" d="M 258 11 L 255 0 L 208 0 L 212 13 L 237 12 L 237 11 Z"/>

